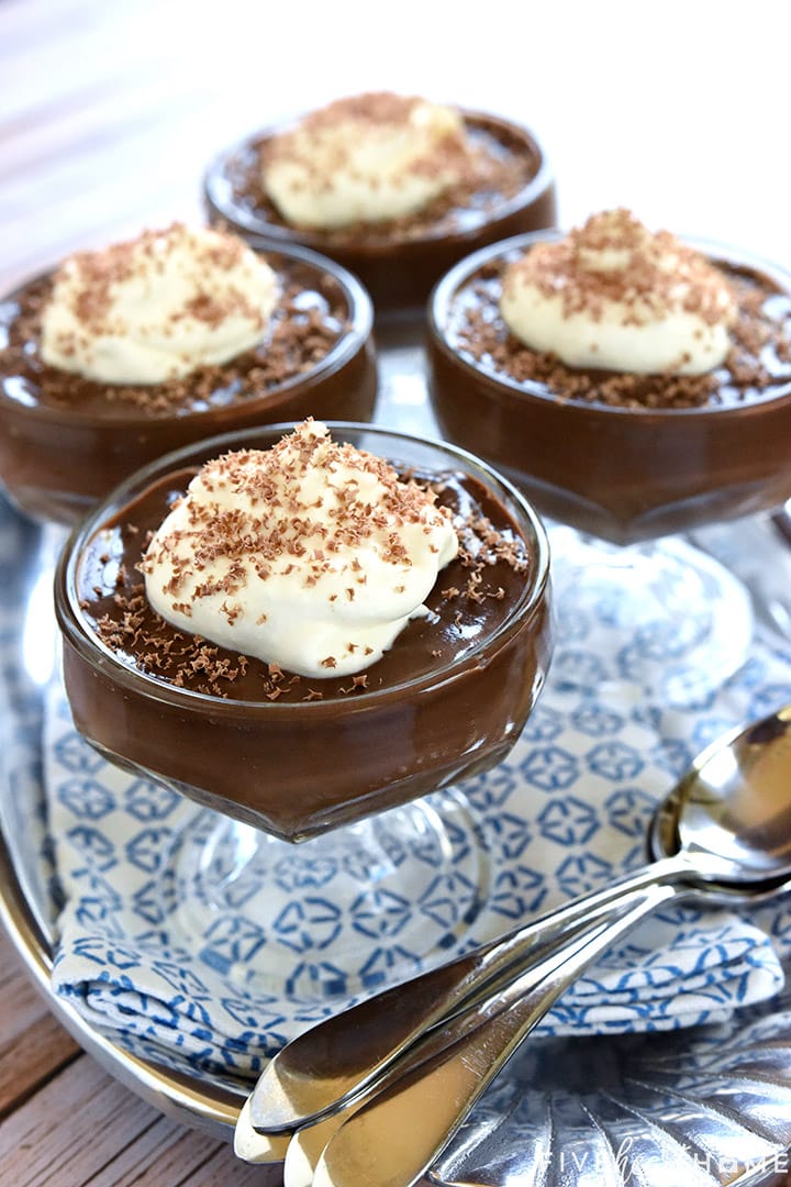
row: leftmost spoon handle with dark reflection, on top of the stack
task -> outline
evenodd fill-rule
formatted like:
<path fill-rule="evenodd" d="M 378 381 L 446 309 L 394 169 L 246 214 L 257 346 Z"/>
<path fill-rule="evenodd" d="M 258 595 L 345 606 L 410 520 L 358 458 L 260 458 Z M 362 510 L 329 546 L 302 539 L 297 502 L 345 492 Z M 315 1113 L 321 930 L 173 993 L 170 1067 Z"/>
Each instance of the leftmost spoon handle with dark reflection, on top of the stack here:
<path fill-rule="evenodd" d="M 266 1132 L 312 1123 L 374 1083 L 430 1028 L 485 994 L 540 947 L 612 904 L 655 884 L 675 883 L 702 871 L 683 855 L 652 862 L 573 899 L 439 969 L 377 994 L 304 1032 L 266 1067 L 250 1097 L 250 1121 Z"/>

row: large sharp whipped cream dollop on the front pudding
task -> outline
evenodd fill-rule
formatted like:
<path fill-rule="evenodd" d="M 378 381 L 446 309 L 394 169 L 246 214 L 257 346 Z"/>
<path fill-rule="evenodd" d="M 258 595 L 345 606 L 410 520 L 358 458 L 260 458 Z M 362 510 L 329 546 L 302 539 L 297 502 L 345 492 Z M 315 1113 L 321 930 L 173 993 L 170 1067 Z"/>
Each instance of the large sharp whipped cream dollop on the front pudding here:
<path fill-rule="evenodd" d="M 369 667 L 458 552 L 449 514 L 306 420 L 209 462 L 154 533 L 149 603 L 173 626 L 307 677 Z"/>

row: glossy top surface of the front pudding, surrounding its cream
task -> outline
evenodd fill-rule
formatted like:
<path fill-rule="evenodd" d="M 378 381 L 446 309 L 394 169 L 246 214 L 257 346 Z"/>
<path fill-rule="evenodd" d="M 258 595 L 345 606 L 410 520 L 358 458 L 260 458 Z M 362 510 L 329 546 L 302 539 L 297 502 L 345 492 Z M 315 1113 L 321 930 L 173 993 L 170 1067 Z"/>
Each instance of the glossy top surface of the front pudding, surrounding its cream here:
<path fill-rule="evenodd" d="M 503 506 L 479 482 L 461 474 L 433 480 L 438 503 L 453 510 L 460 550 L 441 570 L 426 603 L 430 617 L 413 620 L 384 656 L 359 675 L 293 675 L 177 630 L 146 599 L 139 570 L 142 552 L 196 472 L 168 476 L 122 508 L 85 547 L 77 586 L 102 642 L 140 672 L 179 688 L 279 703 L 391 688 L 463 660 L 479 647 L 508 621 L 531 577 L 535 558 Z"/>

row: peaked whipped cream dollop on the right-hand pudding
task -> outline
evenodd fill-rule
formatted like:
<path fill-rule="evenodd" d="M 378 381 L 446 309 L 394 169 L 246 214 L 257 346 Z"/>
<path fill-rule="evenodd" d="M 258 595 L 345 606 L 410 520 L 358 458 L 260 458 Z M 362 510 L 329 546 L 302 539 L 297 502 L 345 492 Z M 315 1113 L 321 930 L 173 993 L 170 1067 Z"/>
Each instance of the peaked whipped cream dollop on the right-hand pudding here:
<path fill-rule="evenodd" d="M 697 375 L 725 361 L 736 301 L 704 256 L 611 210 L 511 265 L 500 313 L 568 367 Z"/>

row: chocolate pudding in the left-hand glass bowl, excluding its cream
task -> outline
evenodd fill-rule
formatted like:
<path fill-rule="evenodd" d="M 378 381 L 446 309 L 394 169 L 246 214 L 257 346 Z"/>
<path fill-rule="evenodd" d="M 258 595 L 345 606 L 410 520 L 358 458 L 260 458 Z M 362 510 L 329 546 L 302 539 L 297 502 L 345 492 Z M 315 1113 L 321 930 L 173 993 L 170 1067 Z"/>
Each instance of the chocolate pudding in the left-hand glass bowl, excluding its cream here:
<path fill-rule="evenodd" d="M 313 252 L 254 246 L 278 281 L 264 339 L 165 382 L 100 382 L 47 364 L 42 316 L 51 275 L 0 304 L 0 478 L 23 512 L 71 522 L 141 465 L 212 433 L 311 413 L 372 415 L 365 291 Z"/>

